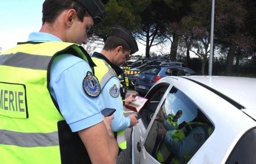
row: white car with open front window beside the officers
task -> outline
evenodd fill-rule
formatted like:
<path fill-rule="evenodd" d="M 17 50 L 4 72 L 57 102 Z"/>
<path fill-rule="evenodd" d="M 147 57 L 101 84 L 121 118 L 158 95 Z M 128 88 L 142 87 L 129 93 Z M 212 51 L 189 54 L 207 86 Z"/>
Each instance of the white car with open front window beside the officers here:
<path fill-rule="evenodd" d="M 256 163 L 256 78 L 170 76 L 145 98 L 131 134 L 133 164 Z"/>

